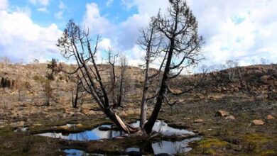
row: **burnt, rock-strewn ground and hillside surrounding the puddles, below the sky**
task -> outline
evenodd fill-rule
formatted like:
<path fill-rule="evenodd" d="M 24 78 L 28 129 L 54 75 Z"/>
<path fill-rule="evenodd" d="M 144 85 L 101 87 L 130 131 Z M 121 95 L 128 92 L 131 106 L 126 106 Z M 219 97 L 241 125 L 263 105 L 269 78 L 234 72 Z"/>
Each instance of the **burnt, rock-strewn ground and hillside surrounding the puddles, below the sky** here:
<path fill-rule="evenodd" d="M 12 80 L 15 81 L 14 89 L 0 88 L 0 155 L 65 155 L 63 150 L 69 148 L 118 155 L 130 145 L 146 143 L 147 146 L 149 141 L 157 139 L 133 137 L 80 143 L 33 135 L 53 131 L 53 126 L 66 123 L 79 123 L 79 126 L 77 129 L 60 127 L 60 132 L 71 133 L 111 123 L 90 96 L 82 106 L 72 108 L 71 84 L 64 74 L 59 74 L 52 82 L 54 97 L 51 106 L 45 106 L 43 88 L 33 78 L 45 74 L 46 66 L 38 66 L 16 66 L 0 71 L 1 77 L 10 79 L 5 81 L 9 82 L 7 84 L 11 86 Z M 276 65 L 244 67 L 241 69 L 243 79 L 236 82 L 229 82 L 225 72 L 210 73 L 204 88 L 171 98 L 180 101 L 173 107 L 163 104 L 159 119 L 173 127 L 193 130 L 202 137 L 190 144 L 192 151 L 180 155 L 277 155 L 276 68 Z M 141 94 L 138 93 L 143 83 L 140 71 L 129 67 L 129 94 L 124 106 L 116 109 L 128 122 L 139 119 Z M 193 77 L 189 79 L 194 81 Z M 189 79 L 179 80 L 180 85 L 176 86 L 187 86 Z M 28 84 L 24 85 L 28 87 L 16 84 Z M 234 120 L 216 116 L 219 110 L 228 111 Z M 150 113 L 151 110 L 148 115 Z M 275 119 L 266 119 L 268 115 Z M 195 123 L 196 119 L 202 122 Z M 264 125 L 255 126 L 254 119 L 261 119 Z M 13 132 L 22 126 L 27 126 L 29 131 Z"/>

